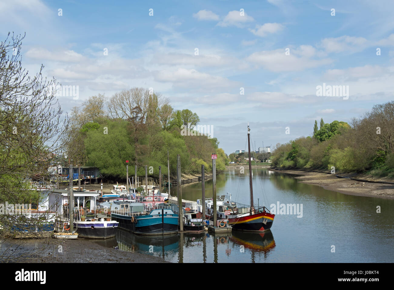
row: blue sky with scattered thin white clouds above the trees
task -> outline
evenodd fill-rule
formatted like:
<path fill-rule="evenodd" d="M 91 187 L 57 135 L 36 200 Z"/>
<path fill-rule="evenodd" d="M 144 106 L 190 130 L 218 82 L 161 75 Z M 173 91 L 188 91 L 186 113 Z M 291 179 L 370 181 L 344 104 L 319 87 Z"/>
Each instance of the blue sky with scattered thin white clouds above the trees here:
<path fill-rule="evenodd" d="M 230 154 L 247 150 L 248 122 L 253 148 L 274 147 L 392 101 L 393 15 L 388 0 L 0 0 L 0 41 L 26 32 L 22 65 L 78 86 L 59 97 L 64 112 L 153 88 Z"/>

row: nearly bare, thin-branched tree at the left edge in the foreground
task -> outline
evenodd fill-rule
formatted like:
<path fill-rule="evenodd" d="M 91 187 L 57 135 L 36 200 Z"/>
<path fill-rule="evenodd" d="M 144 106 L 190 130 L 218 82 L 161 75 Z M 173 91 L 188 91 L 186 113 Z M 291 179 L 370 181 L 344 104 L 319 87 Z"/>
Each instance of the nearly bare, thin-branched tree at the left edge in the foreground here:
<path fill-rule="evenodd" d="M 60 150 L 60 136 L 69 126 L 63 119 L 58 99 L 49 88 L 56 80 L 43 78 L 43 65 L 30 76 L 22 68 L 21 43 L 24 36 L 12 36 L 0 43 L 0 204 L 37 204 L 41 196 L 32 190 L 28 178 L 45 180 L 52 163 L 52 152 Z M 3 208 L 4 209 L 4 208 Z M 9 240 L 15 225 L 41 227 L 48 223 L 46 213 L 31 218 L 20 213 L 0 214 L 0 236 Z M 20 232 L 23 234 L 23 232 Z M 37 238 L 43 232 L 37 232 Z M 18 256 L 0 252 L 0 261 Z"/>

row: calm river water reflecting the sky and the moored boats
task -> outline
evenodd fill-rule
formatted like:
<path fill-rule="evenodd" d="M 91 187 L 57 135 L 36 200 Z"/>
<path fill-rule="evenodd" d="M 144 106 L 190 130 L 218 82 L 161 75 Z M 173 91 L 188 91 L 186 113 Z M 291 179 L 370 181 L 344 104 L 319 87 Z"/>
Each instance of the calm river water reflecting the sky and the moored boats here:
<path fill-rule="evenodd" d="M 296 204 L 298 213 L 277 212 L 264 234 L 233 230 L 226 235 L 205 232 L 152 239 L 118 230 L 116 238 L 97 243 L 170 262 L 394 262 L 394 200 L 344 195 L 264 168 L 252 171 L 256 205 L 271 209 L 278 202 Z M 211 197 L 212 180 L 205 187 Z M 218 175 L 216 191 L 249 204 L 247 168 L 244 174 L 231 168 Z M 201 183 L 182 185 L 182 197 L 201 198 Z M 381 213 L 376 213 L 377 206 Z"/>

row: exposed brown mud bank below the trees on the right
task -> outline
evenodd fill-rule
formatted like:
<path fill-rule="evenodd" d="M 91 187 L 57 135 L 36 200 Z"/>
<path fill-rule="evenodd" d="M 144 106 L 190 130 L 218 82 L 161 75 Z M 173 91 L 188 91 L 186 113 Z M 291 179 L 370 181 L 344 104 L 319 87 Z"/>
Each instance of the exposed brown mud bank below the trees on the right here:
<path fill-rule="evenodd" d="M 299 175 L 295 178 L 301 180 L 300 182 L 302 183 L 319 185 L 324 189 L 344 193 L 346 195 L 394 199 L 394 184 L 355 181 L 349 178 L 337 178 L 335 174 L 309 172 L 303 170 L 269 170 L 279 173 Z M 364 176 L 352 177 L 365 178 Z"/>

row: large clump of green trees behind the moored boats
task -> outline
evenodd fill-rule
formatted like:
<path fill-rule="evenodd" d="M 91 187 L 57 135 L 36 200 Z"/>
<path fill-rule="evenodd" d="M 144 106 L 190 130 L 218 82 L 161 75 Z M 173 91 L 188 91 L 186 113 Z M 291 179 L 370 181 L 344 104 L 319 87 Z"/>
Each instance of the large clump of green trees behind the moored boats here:
<path fill-rule="evenodd" d="M 218 172 L 228 163 L 217 138 L 181 134 L 182 125 L 193 131 L 200 121 L 196 113 L 174 110 L 167 98 L 147 88 L 122 90 L 109 98 L 91 96 L 72 109 L 70 119 L 67 155 L 75 164 L 98 167 L 106 178 L 125 179 L 126 160 L 133 168 L 137 165 L 139 176 L 145 175 L 147 165 L 149 176 L 155 178 L 159 166 L 168 175 L 167 158 L 170 175 L 176 175 L 177 154 L 182 173 L 200 173 L 202 164 L 212 171 L 212 153 L 218 155 Z"/>

